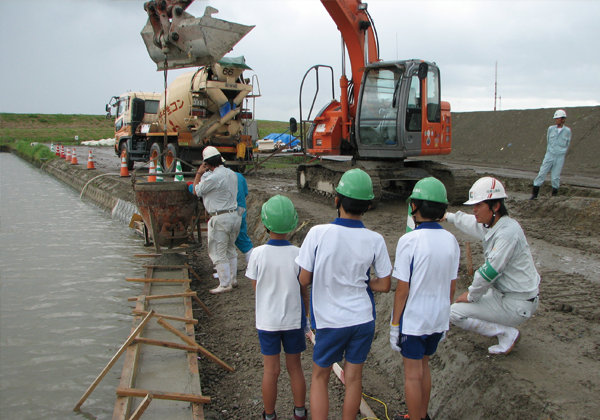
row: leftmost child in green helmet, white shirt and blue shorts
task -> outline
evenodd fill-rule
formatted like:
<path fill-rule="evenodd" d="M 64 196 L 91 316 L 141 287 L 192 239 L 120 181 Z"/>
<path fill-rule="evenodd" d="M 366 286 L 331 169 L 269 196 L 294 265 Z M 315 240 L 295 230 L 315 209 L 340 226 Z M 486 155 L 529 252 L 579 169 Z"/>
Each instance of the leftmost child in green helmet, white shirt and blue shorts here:
<path fill-rule="evenodd" d="M 298 283 L 300 269 L 294 260 L 300 249 L 287 240 L 287 234 L 298 224 L 298 214 L 289 198 L 276 195 L 263 204 L 261 218 L 270 239 L 252 252 L 246 277 L 256 291 L 256 329 L 264 364 L 262 418 L 277 419 L 275 402 L 283 344 L 294 398 L 292 418 L 306 420 L 306 382 L 300 356 L 306 350 L 305 333 L 310 328 L 306 319 L 308 288 Z"/>

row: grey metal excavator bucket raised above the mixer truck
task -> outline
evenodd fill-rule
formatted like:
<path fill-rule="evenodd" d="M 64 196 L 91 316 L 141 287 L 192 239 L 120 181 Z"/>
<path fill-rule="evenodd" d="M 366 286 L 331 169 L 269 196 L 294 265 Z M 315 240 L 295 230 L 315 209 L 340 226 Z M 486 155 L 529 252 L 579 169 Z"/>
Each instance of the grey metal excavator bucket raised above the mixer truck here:
<path fill-rule="evenodd" d="M 183 12 L 173 15 L 167 34 L 156 35 L 151 19 L 141 32 L 146 49 L 157 70 L 207 66 L 219 61 L 254 26 L 241 25 L 211 14 L 217 9 L 208 6 L 204 16 L 196 18 Z"/>

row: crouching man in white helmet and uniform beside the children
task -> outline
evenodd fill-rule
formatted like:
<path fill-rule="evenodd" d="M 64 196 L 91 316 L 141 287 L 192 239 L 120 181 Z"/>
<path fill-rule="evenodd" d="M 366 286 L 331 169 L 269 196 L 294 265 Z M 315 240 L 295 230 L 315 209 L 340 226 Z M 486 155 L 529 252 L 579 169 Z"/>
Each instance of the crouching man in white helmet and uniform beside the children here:
<path fill-rule="evenodd" d="M 482 240 L 485 263 L 475 272 L 469 291 L 450 307 L 450 322 L 463 330 L 498 337 L 488 348 L 508 354 L 520 338 L 514 328 L 527 321 L 539 304 L 540 275 L 519 223 L 508 217 L 504 186 L 495 178 L 479 179 L 469 191 L 473 215 L 447 213 L 445 220 Z"/>

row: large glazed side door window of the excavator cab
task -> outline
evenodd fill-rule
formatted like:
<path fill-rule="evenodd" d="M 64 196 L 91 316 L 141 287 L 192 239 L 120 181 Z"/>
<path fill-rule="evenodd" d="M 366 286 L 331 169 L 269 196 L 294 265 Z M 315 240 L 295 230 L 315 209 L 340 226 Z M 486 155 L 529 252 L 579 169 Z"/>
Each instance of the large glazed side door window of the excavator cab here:
<path fill-rule="evenodd" d="M 401 80 L 402 70 L 397 67 L 367 70 L 358 110 L 359 138 L 362 144 L 398 144 L 398 107 L 394 106 L 394 95 L 400 92 Z"/>

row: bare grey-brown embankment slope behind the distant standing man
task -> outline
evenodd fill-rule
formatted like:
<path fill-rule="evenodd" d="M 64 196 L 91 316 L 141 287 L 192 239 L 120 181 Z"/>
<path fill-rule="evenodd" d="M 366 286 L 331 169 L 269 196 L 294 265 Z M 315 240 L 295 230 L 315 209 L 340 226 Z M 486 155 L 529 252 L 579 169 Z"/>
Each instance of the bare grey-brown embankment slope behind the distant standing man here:
<path fill-rule="evenodd" d="M 600 106 L 564 108 L 573 137 L 563 174 L 600 174 Z M 537 170 L 555 109 L 453 113 L 452 154 L 434 158 Z"/>

